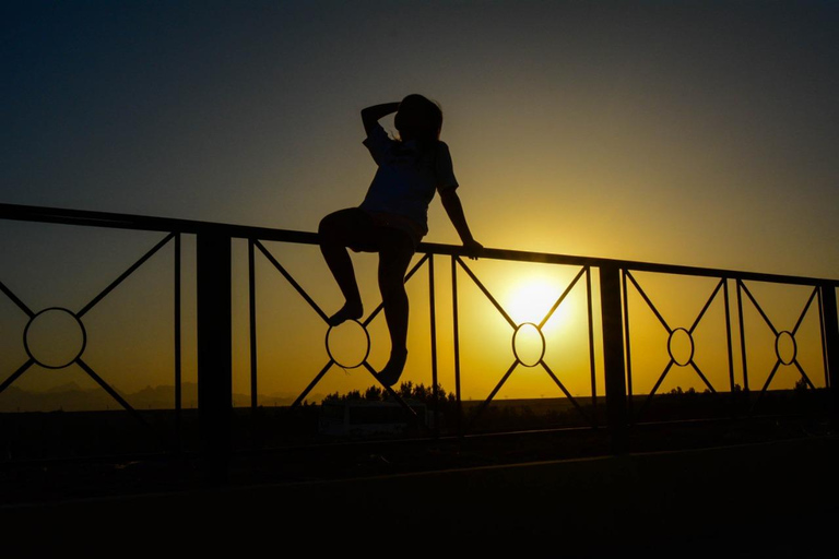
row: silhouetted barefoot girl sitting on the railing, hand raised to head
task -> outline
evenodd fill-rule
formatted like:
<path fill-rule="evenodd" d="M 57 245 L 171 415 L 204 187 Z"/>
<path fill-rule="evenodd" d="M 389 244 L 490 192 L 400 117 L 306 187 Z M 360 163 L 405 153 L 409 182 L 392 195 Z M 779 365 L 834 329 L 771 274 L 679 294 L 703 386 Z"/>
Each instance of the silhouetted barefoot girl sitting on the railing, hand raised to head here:
<path fill-rule="evenodd" d="M 395 112 L 399 140 L 388 136 L 379 119 Z M 320 250 L 346 302 L 329 319 L 336 326 L 364 313 L 353 263 L 346 248 L 379 253 L 379 290 L 390 333 L 390 359 L 377 374 L 392 386 L 407 358 L 407 294 L 404 277 L 420 240 L 428 231 L 428 204 L 435 191 L 460 236 L 465 252 L 476 258 L 483 249 L 470 233 L 458 198 L 458 181 L 448 146 L 440 141 L 442 111 L 422 95 L 401 103 L 362 110 L 367 132 L 364 145 L 378 165 L 367 195 L 358 207 L 340 210 L 321 219 Z"/>

